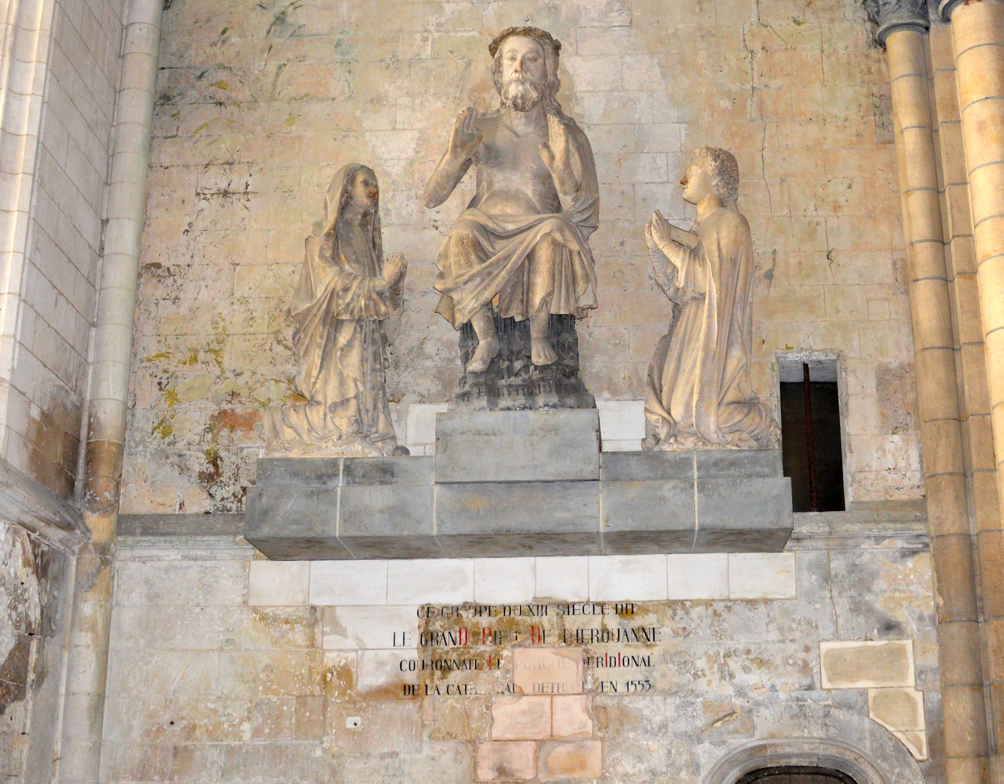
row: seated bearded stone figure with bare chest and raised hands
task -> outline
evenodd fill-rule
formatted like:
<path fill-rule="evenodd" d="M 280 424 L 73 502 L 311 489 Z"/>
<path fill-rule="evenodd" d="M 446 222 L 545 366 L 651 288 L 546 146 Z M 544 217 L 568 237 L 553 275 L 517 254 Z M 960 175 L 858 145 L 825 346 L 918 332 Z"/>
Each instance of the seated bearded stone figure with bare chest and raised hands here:
<path fill-rule="evenodd" d="M 552 314 L 581 317 L 596 306 L 587 240 L 596 229 L 595 164 L 585 134 L 557 101 L 561 44 L 534 27 L 512 27 L 489 46 L 496 111 L 468 108 L 456 119 L 425 204 L 445 202 L 473 166 L 476 193 L 436 258 L 437 311 L 478 346 L 468 372 L 499 351 L 493 317 L 529 319 L 531 359 L 555 361 Z"/>

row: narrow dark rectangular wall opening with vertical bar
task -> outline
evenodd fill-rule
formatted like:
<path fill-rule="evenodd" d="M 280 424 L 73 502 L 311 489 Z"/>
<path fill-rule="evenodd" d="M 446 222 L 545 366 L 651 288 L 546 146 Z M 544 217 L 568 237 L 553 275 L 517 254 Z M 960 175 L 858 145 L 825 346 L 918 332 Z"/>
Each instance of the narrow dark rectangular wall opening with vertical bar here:
<path fill-rule="evenodd" d="M 778 357 L 781 456 L 795 512 L 842 512 L 843 449 L 836 357 Z"/>

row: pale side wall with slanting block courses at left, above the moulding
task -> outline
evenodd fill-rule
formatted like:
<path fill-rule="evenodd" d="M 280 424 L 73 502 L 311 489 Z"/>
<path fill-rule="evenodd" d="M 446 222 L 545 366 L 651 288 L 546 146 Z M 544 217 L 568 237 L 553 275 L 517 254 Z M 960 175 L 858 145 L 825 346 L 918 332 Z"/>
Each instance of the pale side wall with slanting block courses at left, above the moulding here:
<path fill-rule="evenodd" d="M 38 44 L 48 70 L 23 266 L 5 281 L 17 293 L 17 317 L 12 366 L 0 369 L 7 381 L 2 457 L 67 498 L 87 397 L 123 3 L 38 5 L 42 23 L 51 23 Z"/>

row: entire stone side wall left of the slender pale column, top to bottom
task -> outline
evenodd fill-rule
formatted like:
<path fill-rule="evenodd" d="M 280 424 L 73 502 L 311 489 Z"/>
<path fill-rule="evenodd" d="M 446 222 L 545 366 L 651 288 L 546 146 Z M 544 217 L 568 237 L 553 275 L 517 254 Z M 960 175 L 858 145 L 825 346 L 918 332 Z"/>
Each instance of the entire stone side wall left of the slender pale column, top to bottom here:
<path fill-rule="evenodd" d="M 70 531 L 82 527 L 71 501 L 123 3 L 9 5 L 0 28 L 0 772 L 45 782 L 59 757 L 79 541 Z"/>

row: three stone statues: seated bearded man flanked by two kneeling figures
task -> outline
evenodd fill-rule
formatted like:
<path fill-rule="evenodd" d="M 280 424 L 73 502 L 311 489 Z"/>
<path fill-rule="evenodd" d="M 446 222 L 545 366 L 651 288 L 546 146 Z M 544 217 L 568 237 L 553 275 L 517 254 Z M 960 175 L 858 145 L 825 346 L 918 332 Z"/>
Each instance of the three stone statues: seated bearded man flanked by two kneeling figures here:
<path fill-rule="evenodd" d="M 460 330 L 458 409 L 576 409 L 595 402 L 578 375 L 575 320 L 597 306 L 589 236 L 599 188 L 589 141 L 557 99 L 561 44 L 535 27 L 492 41 L 495 111 L 468 108 L 425 189 L 443 204 L 472 167 L 475 196 L 436 256 L 439 312 Z M 752 242 L 736 208 L 739 170 L 701 148 L 681 181 L 691 231 L 657 211 L 646 226 L 654 273 L 673 304 L 649 368 L 647 450 L 775 446 L 779 429 L 749 378 Z M 272 455 L 407 454 L 385 388 L 387 346 L 403 308 L 407 264 L 384 259 L 376 177 L 342 167 L 290 306 L 303 401 L 270 409 Z"/>

